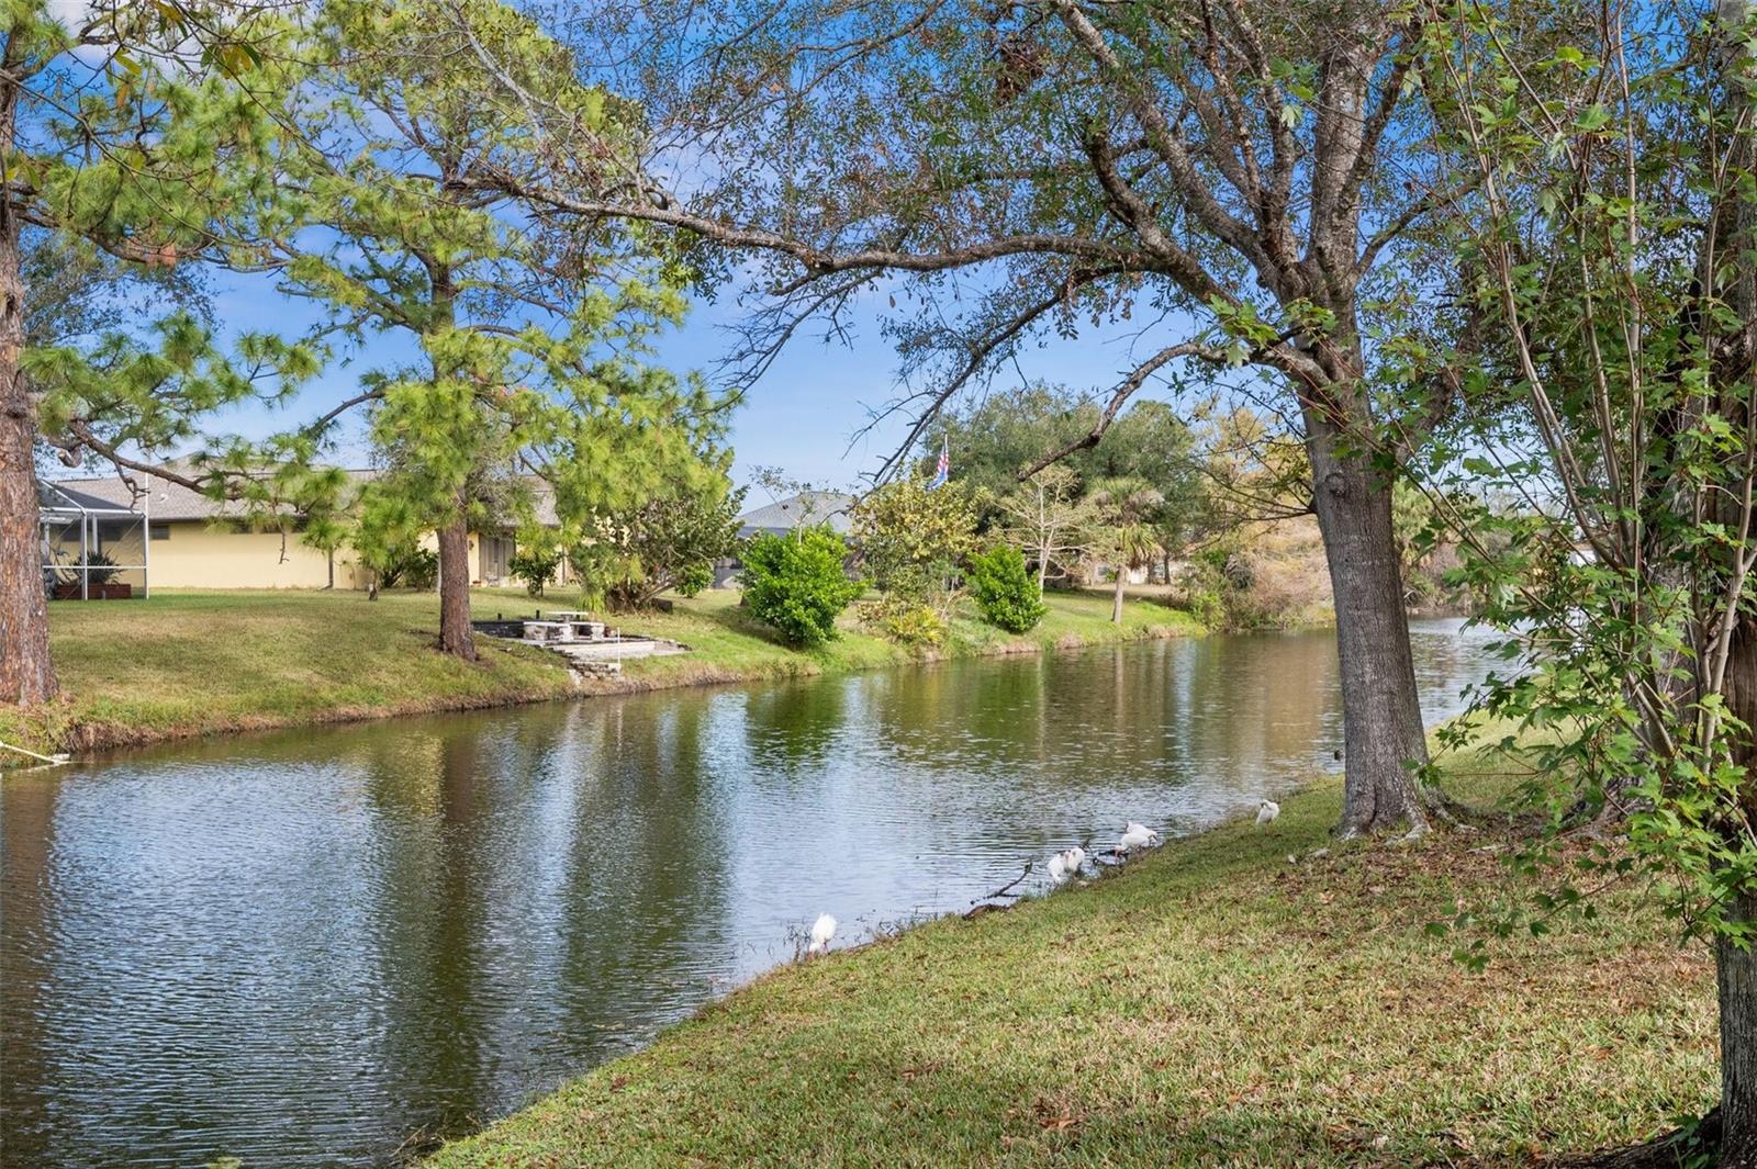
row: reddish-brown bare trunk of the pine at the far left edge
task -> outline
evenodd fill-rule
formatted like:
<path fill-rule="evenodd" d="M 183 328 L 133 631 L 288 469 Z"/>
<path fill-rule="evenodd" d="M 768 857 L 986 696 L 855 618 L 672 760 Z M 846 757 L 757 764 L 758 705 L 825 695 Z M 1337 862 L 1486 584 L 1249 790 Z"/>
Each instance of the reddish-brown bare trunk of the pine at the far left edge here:
<path fill-rule="evenodd" d="M 12 140 L 16 91 L 0 97 L 0 142 Z M 0 204 L 0 702 L 56 693 L 37 507 L 37 411 L 18 360 L 25 348 L 19 221 Z"/>

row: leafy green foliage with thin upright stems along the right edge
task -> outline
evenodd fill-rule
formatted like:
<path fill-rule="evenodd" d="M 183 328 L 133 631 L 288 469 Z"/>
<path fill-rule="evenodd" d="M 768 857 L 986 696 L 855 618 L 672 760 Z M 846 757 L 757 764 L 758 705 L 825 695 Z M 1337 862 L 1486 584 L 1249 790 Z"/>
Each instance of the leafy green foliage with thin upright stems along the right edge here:
<path fill-rule="evenodd" d="M 1492 727 L 1544 828 L 1513 858 L 1544 874 L 1539 895 L 1435 923 L 1464 932 L 1472 965 L 1625 883 L 1688 934 L 1757 941 L 1753 60 L 1694 56 L 1666 21 L 1511 35 L 1474 9 L 1430 30 L 1460 70 L 1432 95 L 1437 126 L 1483 183 L 1479 218 L 1435 244 L 1471 256 L 1458 300 L 1492 326 L 1464 381 L 1469 427 L 1420 472 L 1460 539 L 1451 583 L 1509 662 L 1478 695 L 1490 718 L 1442 741 Z M 1601 813 L 1627 823 L 1627 850 L 1567 843 Z"/>

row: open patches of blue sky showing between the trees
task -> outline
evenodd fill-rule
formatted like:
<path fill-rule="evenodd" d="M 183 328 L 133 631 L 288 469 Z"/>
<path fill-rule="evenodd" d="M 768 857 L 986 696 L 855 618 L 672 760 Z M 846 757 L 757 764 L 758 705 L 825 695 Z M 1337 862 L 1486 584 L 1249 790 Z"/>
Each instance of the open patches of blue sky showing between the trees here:
<path fill-rule="evenodd" d="M 297 335 L 318 319 L 313 305 L 283 297 L 265 279 L 227 274 L 216 274 L 214 311 L 227 332 L 274 330 Z M 736 323 L 743 311 L 731 290 L 713 304 L 698 304 L 687 323 L 659 342 L 659 360 L 673 370 L 701 370 L 712 379 L 734 346 L 727 325 Z M 801 330 L 792 339 L 733 414 L 736 483 L 750 483 L 752 467 L 780 467 L 794 479 L 850 486 L 901 442 L 908 430 L 903 418 L 891 418 L 864 437 L 856 437 L 870 412 L 898 391 L 898 358 L 880 332 L 884 311 L 882 298 L 868 300 L 864 311 L 852 318 L 852 344 L 826 344 L 822 330 Z M 1170 328 L 1175 323 L 1167 325 Z M 1132 346 L 1156 348 L 1174 339 L 1165 332 L 1137 342 L 1132 333 L 1133 330 L 1088 332 L 1075 341 L 1052 337 L 1042 348 L 1028 349 L 1019 370 L 1028 379 L 1061 381 L 1082 391 L 1107 395 L 1128 369 Z M 364 351 L 350 355 L 346 362 L 334 362 L 290 411 L 239 411 L 223 420 L 223 425 L 255 437 L 285 428 L 353 393 L 364 370 L 409 355 L 402 337 L 378 335 Z M 1014 372 L 996 386 L 1017 381 L 1019 372 Z M 1144 391 L 1142 397 L 1149 395 L 1151 391 Z M 353 428 L 337 451 L 337 462 L 362 465 L 365 451 L 364 434 Z"/>

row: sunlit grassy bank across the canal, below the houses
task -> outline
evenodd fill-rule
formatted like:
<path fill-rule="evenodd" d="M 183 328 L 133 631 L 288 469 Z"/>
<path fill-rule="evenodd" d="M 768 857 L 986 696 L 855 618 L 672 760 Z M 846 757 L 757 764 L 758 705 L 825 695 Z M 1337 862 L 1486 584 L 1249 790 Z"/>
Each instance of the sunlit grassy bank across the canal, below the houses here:
<path fill-rule="evenodd" d="M 564 597 L 522 592 L 476 595 L 476 616 L 529 614 Z M 1132 602 L 1121 627 L 1109 602 L 1049 599 L 1049 616 L 1024 639 L 958 621 L 947 653 L 975 655 L 1193 632 L 1182 613 Z M 736 593 L 678 602 L 669 614 L 638 614 L 624 628 L 692 646 L 687 656 L 631 662 L 620 679 L 587 692 L 647 690 L 871 669 L 914 660 L 908 649 L 864 634 L 815 651 L 789 649 L 750 621 Z M 492 637 L 476 663 L 434 649 L 439 602 L 432 593 L 160 592 L 149 600 L 54 602 L 49 632 L 61 700 L 0 709 L 0 739 L 39 751 L 90 751 L 184 735 L 297 727 L 536 702 L 578 693 L 559 656 Z"/>

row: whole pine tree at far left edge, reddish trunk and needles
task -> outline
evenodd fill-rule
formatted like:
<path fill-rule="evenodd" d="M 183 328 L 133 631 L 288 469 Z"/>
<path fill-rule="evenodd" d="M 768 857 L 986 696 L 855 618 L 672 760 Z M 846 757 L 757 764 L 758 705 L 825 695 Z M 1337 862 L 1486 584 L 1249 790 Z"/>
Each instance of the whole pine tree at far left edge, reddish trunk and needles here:
<path fill-rule="evenodd" d="M 26 226 L 146 267 L 220 255 L 228 219 L 272 197 L 272 177 L 258 165 L 271 128 L 237 84 L 258 60 L 248 11 L 114 4 L 74 18 L 77 28 L 51 19 L 42 0 L 7 0 L 5 11 L 0 700 L 33 704 L 56 693 L 35 488 L 39 442 L 69 463 L 97 455 L 142 467 L 144 456 L 192 435 L 204 414 L 286 391 L 288 379 L 311 372 L 313 355 L 246 339 L 242 362 L 230 362 L 184 312 L 144 337 L 105 337 L 91 362 L 67 348 L 26 348 Z"/>

